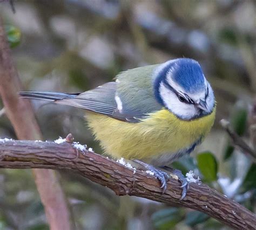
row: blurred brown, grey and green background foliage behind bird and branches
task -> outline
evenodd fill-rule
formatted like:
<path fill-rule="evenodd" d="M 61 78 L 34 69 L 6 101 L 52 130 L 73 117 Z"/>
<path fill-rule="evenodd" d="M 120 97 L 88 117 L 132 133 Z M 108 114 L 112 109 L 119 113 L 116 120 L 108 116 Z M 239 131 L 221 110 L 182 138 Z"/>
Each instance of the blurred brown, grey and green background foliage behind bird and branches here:
<path fill-rule="evenodd" d="M 215 91 L 217 118 L 193 158 L 173 166 L 194 170 L 255 212 L 256 166 L 219 124 L 227 119 L 255 148 L 255 1 L 42 0 L 15 1 L 15 9 L 0 3 L 24 90 L 83 92 L 129 68 L 198 60 Z M 45 140 L 72 133 L 102 152 L 82 110 L 32 102 Z M 0 115 L 0 136 L 16 138 L 3 110 Z M 60 175 L 76 229 L 229 229 L 204 213 L 118 197 L 76 173 Z M 0 229 L 49 229 L 30 170 L 0 170 Z"/>

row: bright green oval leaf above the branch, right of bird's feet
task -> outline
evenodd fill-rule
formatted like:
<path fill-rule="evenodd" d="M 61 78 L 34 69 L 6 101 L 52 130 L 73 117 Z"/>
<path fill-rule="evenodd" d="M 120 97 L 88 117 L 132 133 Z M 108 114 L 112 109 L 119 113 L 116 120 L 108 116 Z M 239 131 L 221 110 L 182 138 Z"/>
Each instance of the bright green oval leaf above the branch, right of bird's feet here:
<path fill-rule="evenodd" d="M 217 180 L 218 163 L 211 152 L 203 152 L 197 155 L 198 169 L 207 182 Z"/>

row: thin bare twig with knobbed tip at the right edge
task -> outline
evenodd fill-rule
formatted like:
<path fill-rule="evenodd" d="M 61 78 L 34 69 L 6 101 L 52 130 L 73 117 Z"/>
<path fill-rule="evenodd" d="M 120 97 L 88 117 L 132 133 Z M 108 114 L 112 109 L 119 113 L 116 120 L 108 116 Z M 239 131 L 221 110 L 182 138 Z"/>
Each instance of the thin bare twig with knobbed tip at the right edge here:
<path fill-rule="evenodd" d="M 235 133 L 230 127 L 230 122 L 225 119 L 220 121 L 221 126 L 227 131 L 228 135 L 231 137 L 233 144 L 239 147 L 245 154 L 252 157 L 253 161 L 256 162 L 256 151 L 253 150 L 242 138 Z"/>

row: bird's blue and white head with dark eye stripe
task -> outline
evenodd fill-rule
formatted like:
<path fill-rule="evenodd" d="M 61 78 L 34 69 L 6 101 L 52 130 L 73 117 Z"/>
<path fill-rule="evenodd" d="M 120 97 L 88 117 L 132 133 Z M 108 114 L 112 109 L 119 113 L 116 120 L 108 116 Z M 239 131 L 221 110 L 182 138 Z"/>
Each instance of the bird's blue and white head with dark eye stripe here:
<path fill-rule="evenodd" d="M 199 63 L 180 58 L 156 69 L 154 94 L 159 103 L 182 120 L 193 120 L 212 113 L 215 99 Z"/>

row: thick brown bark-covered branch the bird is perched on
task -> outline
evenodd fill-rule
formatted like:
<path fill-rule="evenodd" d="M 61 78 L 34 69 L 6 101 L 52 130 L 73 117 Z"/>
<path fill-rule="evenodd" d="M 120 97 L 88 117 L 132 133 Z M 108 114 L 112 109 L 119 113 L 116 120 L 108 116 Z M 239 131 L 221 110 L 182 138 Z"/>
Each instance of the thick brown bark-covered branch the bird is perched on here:
<path fill-rule="evenodd" d="M 79 152 L 65 142 L 1 141 L 0 168 L 43 168 L 72 170 L 93 182 L 107 186 L 119 196 L 143 197 L 174 206 L 204 212 L 237 229 L 255 229 L 256 215 L 205 184 L 190 183 L 184 200 L 180 183 L 170 179 L 161 194 L 159 182 L 143 171 L 126 168 L 90 151 Z"/>

